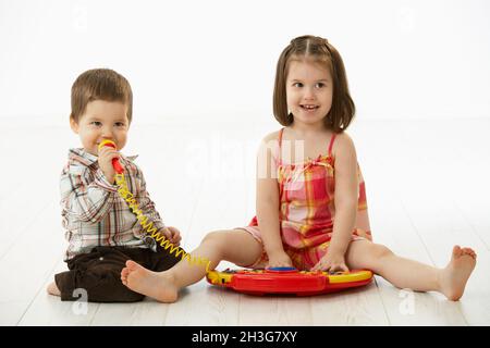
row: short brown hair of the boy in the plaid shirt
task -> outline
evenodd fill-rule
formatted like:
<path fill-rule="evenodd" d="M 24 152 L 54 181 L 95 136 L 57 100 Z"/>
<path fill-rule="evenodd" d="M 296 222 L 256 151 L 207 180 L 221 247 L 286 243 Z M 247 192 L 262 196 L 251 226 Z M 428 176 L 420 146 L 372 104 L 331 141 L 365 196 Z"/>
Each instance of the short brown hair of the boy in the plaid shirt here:
<path fill-rule="evenodd" d="M 127 120 L 133 116 L 133 91 L 127 79 L 110 69 L 93 69 L 79 75 L 72 86 L 70 119 L 78 123 L 90 101 L 120 101 L 127 105 Z"/>

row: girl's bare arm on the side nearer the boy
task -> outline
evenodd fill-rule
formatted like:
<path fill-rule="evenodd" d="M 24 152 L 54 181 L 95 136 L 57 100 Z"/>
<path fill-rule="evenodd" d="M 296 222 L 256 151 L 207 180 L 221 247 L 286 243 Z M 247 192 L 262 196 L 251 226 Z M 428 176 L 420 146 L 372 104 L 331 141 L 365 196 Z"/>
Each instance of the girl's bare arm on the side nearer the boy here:
<path fill-rule="evenodd" d="M 257 220 L 269 261 L 274 263 L 274 260 L 278 260 L 275 262 L 283 261 L 291 265 L 282 246 L 279 225 L 279 185 L 277 164 L 272 157 L 272 150 L 277 146 L 275 139 L 277 134 L 266 137 L 257 156 Z"/>

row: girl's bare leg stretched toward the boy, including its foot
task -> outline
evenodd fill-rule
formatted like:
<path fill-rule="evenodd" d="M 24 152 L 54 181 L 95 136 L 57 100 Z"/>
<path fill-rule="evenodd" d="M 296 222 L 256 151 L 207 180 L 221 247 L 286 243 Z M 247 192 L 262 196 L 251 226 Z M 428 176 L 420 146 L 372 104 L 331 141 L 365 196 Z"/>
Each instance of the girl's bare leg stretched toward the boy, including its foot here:
<path fill-rule="evenodd" d="M 232 229 L 209 233 L 191 252 L 191 257 L 195 260 L 208 259 L 209 270 L 213 270 L 222 260 L 243 266 L 253 264 L 261 252 L 262 246 L 248 232 Z M 174 302 L 179 289 L 200 281 L 205 275 L 205 263 L 192 264 L 185 258 L 164 272 L 151 272 L 130 260 L 121 272 L 121 281 L 132 290 L 160 302 Z"/>

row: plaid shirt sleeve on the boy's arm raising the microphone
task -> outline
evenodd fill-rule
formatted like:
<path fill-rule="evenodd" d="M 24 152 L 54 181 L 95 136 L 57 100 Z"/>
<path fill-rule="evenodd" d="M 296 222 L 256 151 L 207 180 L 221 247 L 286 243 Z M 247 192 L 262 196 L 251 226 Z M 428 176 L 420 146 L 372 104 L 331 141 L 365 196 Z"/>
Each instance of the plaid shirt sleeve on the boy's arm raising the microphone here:
<path fill-rule="evenodd" d="M 61 206 L 74 221 L 100 222 L 114 203 L 118 188 L 111 185 L 102 171 L 95 174 L 89 167 L 69 164 L 60 179 Z"/>

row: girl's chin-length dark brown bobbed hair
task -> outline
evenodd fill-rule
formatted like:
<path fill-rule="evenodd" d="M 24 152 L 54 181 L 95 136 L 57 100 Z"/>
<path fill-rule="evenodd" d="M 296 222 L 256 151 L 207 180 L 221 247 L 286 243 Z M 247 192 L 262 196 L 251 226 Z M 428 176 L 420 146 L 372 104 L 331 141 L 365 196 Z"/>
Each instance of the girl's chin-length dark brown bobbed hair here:
<path fill-rule="evenodd" d="M 283 126 L 293 123 L 293 115 L 287 113 L 285 82 L 290 62 L 303 59 L 311 59 L 328 66 L 333 79 L 333 97 L 330 112 L 324 117 L 324 125 L 335 133 L 342 133 L 354 119 L 355 105 L 348 91 L 341 55 L 327 39 L 318 36 L 305 35 L 294 38 L 279 57 L 273 96 L 275 119 Z"/>

